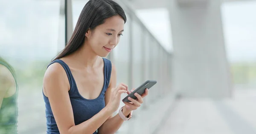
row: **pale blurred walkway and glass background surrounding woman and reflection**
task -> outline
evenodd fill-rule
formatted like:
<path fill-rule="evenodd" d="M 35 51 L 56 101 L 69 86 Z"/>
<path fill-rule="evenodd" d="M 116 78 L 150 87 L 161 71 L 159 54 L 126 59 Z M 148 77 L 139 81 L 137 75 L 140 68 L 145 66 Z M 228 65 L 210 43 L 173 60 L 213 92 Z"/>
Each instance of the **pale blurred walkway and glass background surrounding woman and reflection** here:
<path fill-rule="evenodd" d="M 44 72 L 87 1 L 0 0 L 0 56 L 17 75 L 19 134 L 46 133 Z M 115 1 L 128 18 L 107 57 L 117 83 L 157 80 L 118 134 L 256 134 L 256 0 Z"/>

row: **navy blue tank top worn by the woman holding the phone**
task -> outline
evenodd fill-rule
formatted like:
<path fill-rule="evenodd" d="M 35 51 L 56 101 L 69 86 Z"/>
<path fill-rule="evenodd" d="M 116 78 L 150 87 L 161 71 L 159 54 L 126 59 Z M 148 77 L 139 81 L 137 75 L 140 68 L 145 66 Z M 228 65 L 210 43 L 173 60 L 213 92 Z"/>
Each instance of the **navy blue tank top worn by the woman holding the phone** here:
<path fill-rule="evenodd" d="M 70 96 L 70 102 L 73 108 L 75 125 L 78 125 L 90 119 L 105 107 L 105 92 L 109 85 L 112 65 L 111 65 L 111 61 L 108 59 L 103 58 L 103 61 L 104 61 L 104 85 L 102 87 L 102 92 L 100 93 L 98 98 L 90 99 L 90 100 L 82 97 L 79 94 L 79 91 L 76 86 L 76 81 L 73 78 L 70 68 L 64 61 L 57 59 L 50 63 L 52 64 L 57 62 L 61 64 L 67 73 L 67 77 L 70 83 L 69 96 Z M 44 93 L 43 93 L 43 96 L 44 96 L 44 102 L 45 102 L 45 108 L 46 108 L 45 113 L 46 113 L 46 123 L 47 123 L 47 134 L 60 134 L 56 121 L 54 119 L 54 116 L 52 114 L 52 109 L 49 103 L 49 99 L 44 95 Z M 97 131 L 95 131 L 93 134 L 97 134 Z"/>

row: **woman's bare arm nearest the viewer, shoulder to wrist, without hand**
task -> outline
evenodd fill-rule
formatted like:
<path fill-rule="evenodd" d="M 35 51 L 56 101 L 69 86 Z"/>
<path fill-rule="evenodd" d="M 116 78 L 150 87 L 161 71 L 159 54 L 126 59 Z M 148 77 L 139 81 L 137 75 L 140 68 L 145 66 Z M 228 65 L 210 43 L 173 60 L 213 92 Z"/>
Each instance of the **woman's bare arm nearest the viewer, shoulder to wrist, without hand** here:
<path fill-rule="evenodd" d="M 106 106 L 89 120 L 75 126 L 69 89 L 69 81 L 63 67 L 58 63 L 51 64 L 44 76 L 44 94 L 49 98 L 61 134 L 92 134 L 115 111 Z"/>

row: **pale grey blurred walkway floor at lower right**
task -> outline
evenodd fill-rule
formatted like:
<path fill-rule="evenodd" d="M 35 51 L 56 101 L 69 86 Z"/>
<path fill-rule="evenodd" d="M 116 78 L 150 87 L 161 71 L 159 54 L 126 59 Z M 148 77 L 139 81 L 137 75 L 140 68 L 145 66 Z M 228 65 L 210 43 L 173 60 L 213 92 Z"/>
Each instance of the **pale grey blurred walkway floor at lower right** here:
<path fill-rule="evenodd" d="M 178 100 L 157 134 L 256 134 L 256 90 L 232 99 Z"/>

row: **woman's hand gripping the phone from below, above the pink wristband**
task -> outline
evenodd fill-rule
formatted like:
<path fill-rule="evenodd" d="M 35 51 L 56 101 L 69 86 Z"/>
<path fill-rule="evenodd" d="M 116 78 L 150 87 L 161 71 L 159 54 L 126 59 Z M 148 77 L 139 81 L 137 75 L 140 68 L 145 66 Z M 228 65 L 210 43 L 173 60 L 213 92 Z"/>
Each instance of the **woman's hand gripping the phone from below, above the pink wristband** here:
<path fill-rule="evenodd" d="M 131 92 L 133 91 L 134 89 L 131 90 Z M 130 92 L 128 92 L 128 94 L 129 93 Z M 132 110 L 136 110 L 137 108 L 139 108 L 143 103 L 143 98 L 148 95 L 148 89 L 145 89 L 145 92 L 142 95 L 139 95 L 138 93 L 135 93 L 134 95 L 137 97 L 137 99 L 135 100 L 129 97 L 128 100 L 130 100 L 131 102 L 124 102 L 125 106 L 124 106 L 123 112 L 130 113 Z"/>

